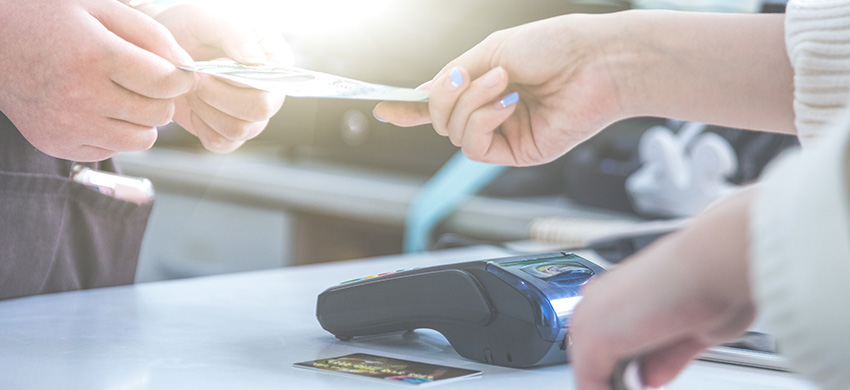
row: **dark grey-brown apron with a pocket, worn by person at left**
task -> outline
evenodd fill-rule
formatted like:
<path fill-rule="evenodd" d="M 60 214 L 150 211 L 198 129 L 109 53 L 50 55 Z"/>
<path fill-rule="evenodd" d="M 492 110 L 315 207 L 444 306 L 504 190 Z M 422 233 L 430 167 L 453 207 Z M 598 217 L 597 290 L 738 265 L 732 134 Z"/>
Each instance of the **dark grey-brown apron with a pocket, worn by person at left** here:
<path fill-rule="evenodd" d="M 0 299 L 133 283 L 151 205 L 70 180 L 0 113 Z M 111 160 L 86 164 L 115 172 Z"/>

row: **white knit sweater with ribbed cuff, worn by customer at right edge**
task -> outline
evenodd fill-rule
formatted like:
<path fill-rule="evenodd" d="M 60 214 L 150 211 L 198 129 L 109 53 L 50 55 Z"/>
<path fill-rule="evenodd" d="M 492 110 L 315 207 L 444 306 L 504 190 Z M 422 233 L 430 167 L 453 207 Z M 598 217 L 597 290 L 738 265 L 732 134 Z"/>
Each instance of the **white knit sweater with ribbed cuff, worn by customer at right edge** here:
<path fill-rule="evenodd" d="M 805 147 L 769 170 L 753 202 L 752 284 L 793 368 L 850 389 L 850 0 L 792 0 L 786 35 Z"/>

